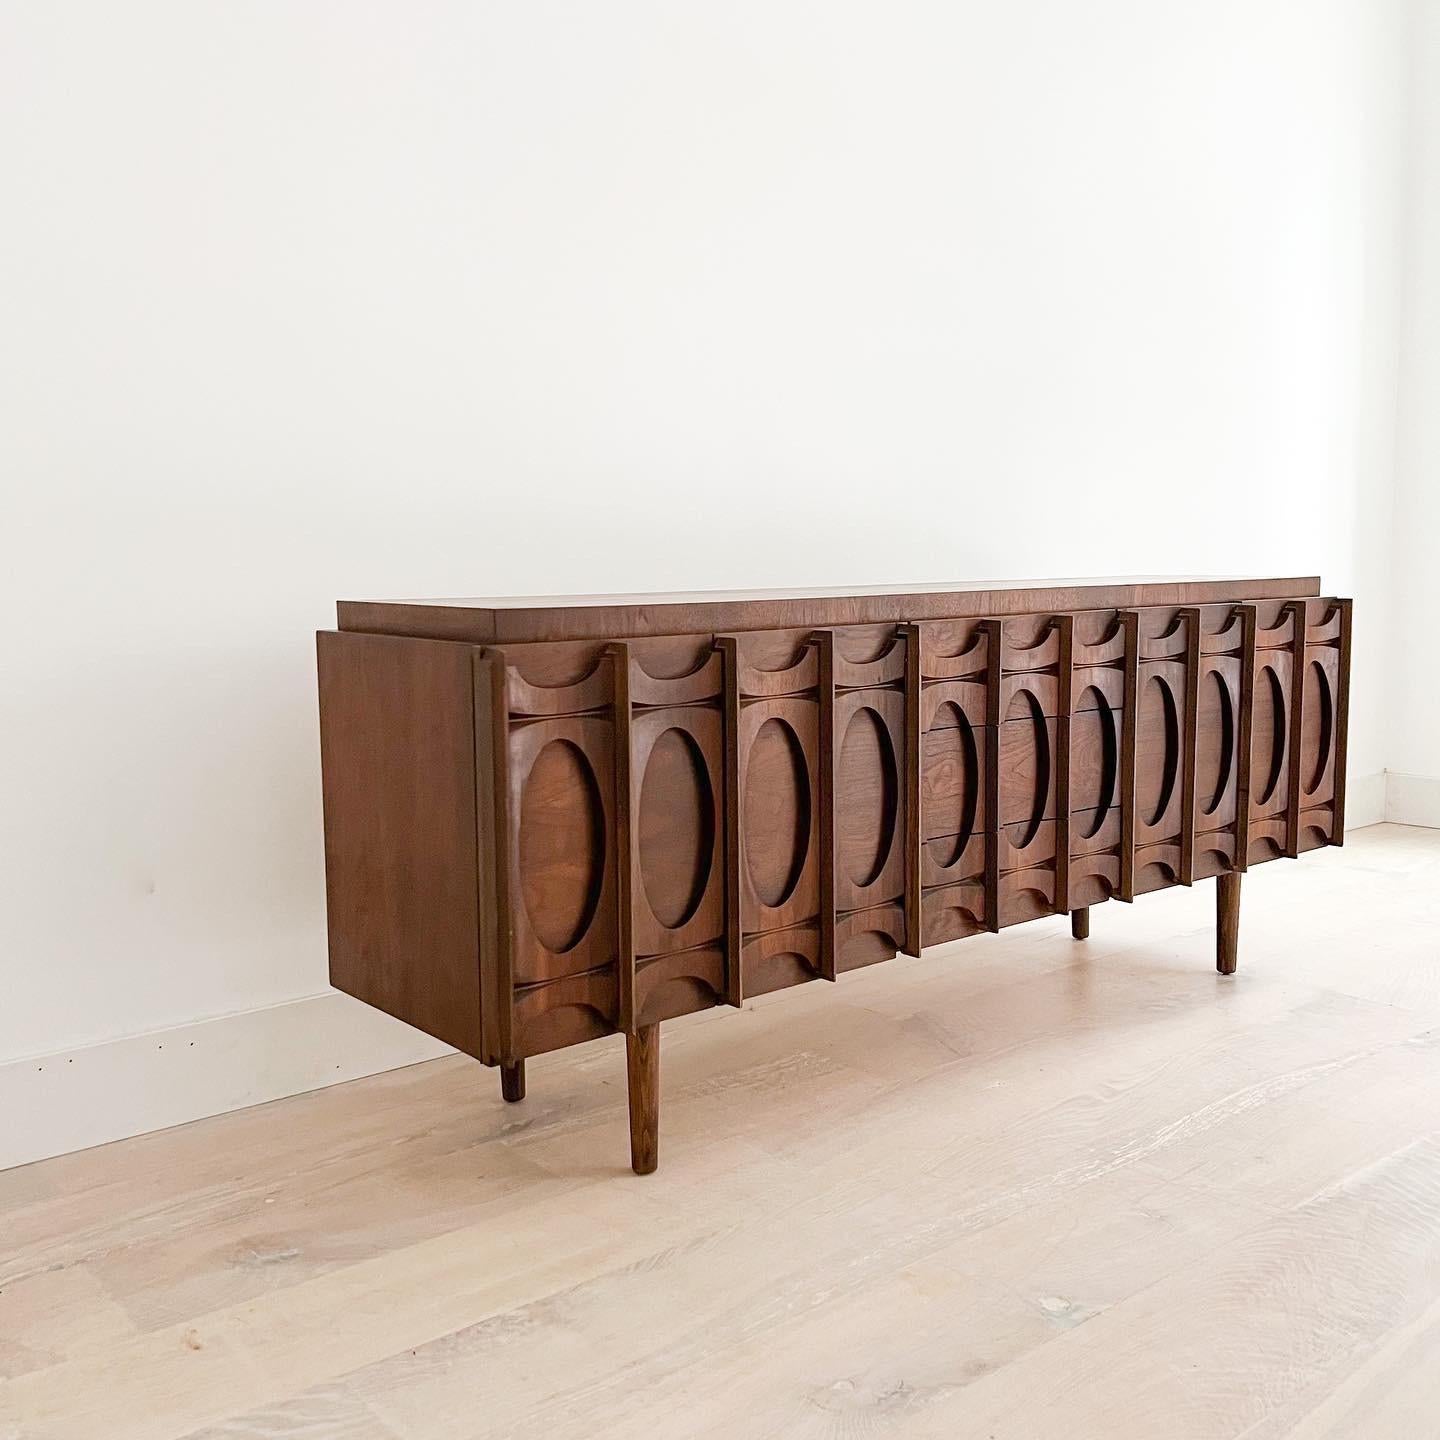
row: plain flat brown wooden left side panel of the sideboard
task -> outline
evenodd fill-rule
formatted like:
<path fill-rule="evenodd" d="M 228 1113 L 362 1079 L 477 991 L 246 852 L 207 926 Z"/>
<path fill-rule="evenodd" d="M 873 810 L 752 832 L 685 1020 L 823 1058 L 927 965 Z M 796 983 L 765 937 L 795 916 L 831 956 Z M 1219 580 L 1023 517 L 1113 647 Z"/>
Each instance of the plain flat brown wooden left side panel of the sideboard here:
<path fill-rule="evenodd" d="M 480 1054 L 471 649 L 317 636 L 330 982 Z"/>

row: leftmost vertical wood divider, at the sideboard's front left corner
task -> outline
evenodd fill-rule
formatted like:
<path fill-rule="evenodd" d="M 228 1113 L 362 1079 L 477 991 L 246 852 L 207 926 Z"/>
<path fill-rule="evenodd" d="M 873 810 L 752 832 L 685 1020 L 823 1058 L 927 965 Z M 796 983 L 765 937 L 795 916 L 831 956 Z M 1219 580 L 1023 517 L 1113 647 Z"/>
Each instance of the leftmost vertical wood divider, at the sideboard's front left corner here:
<path fill-rule="evenodd" d="M 514 950 L 510 922 L 510 703 L 505 654 L 487 648 L 472 667 L 475 808 L 480 852 L 481 1058 L 514 1060 Z"/>

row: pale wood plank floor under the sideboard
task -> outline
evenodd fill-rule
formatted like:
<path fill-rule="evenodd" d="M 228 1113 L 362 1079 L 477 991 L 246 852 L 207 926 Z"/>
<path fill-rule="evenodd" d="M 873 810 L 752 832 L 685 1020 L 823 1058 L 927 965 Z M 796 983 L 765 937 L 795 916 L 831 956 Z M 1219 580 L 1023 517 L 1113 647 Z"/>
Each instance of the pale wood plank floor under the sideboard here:
<path fill-rule="evenodd" d="M 1440 1434 L 1440 832 L 0 1175 L 0 1437 Z"/>

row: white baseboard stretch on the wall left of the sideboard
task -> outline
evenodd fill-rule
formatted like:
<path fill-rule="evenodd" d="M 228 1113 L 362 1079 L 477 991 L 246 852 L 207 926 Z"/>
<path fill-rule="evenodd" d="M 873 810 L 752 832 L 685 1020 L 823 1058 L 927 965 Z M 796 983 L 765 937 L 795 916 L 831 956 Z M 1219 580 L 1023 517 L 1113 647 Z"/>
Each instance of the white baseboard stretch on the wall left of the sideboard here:
<path fill-rule="evenodd" d="M 451 1054 L 328 991 L 0 1064 L 0 1169 Z"/>

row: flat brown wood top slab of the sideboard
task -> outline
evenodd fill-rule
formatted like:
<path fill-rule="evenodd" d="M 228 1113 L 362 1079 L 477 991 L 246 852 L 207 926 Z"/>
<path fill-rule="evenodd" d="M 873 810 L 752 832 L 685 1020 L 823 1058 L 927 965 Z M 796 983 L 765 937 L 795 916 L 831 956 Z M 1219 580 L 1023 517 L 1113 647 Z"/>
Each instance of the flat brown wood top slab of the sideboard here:
<path fill-rule="evenodd" d="M 622 639 L 1024 615 L 1143 605 L 1211 605 L 1320 593 L 1318 576 L 1110 576 L 953 580 L 852 589 L 533 595 L 439 600 L 341 600 L 340 629 L 469 644 Z"/>

